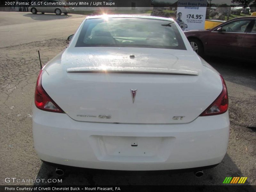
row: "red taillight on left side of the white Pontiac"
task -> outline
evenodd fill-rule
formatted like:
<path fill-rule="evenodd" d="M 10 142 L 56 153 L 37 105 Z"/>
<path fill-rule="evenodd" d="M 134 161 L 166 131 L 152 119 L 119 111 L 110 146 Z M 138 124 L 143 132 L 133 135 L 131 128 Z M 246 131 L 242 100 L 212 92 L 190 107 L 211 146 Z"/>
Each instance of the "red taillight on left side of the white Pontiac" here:
<path fill-rule="evenodd" d="M 51 97 L 44 91 L 42 87 L 42 72 L 40 71 L 37 81 L 36 81 L 36 91 L 35 91 L 35 104 L 36 107 L 44 110 L 51 111 L 56 113 L 65 113 L 52 99 Z"/>

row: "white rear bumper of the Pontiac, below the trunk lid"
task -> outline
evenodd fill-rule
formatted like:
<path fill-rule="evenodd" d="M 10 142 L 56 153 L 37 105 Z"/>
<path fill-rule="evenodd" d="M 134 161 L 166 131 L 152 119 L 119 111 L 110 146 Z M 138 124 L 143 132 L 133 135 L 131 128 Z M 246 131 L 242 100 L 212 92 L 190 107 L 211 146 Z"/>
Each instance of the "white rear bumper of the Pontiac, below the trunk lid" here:
<path fill-rule="evenodd" d="M 215 165 L 226 154 L 228 135 L 228 112 L 188 124 L 108 124 L 33 111 L 40 159 L 75 167 L 146 171 Z"/>

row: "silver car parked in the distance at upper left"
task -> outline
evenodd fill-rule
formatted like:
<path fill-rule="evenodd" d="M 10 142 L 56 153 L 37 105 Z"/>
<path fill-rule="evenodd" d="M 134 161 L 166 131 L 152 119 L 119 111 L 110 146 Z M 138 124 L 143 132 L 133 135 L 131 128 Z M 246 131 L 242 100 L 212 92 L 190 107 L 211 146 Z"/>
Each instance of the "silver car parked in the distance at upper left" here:
<path fill-rule="evenodd" d="M 59 5 L 58 3 L 65 3 L 65 5 Z M 69 12 L 73 11 L 74 7 L 70 7 L 68 3 L 64 0 L 46 0 L 42 1 L 40 4 L 30 5 L 28 11 L 36 14 L 38 12 L 44 13 L 55 13 L 56 15 L 61 15 L 64 13 L 67 15 Z"/>

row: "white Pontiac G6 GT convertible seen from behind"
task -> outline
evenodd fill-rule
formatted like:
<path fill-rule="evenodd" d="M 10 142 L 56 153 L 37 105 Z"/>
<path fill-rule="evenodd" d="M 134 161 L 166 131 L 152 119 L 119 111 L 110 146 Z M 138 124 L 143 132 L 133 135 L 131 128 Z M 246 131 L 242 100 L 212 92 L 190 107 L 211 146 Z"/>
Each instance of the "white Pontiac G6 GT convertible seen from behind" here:
<path fill-rule="evenodd" d="M 87 17 L 40 71 L 33 110 L 36 152 L 59 165 L 199 170 L 228 146 L 224 79 L 169 18 Z"/>

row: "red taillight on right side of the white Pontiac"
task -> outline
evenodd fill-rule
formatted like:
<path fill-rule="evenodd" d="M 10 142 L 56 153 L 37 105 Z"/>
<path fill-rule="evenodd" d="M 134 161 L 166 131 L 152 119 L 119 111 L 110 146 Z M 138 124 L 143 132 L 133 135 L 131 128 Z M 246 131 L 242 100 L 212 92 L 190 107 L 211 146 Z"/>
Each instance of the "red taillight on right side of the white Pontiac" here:
<path fill-rule="evenodd" d="M 219 115 L 228 110 L 228 91 L 223 77 L 220 75 L 222 81 L 222 92 L 215 101 L 207 108 L 200 116 Z"/>

